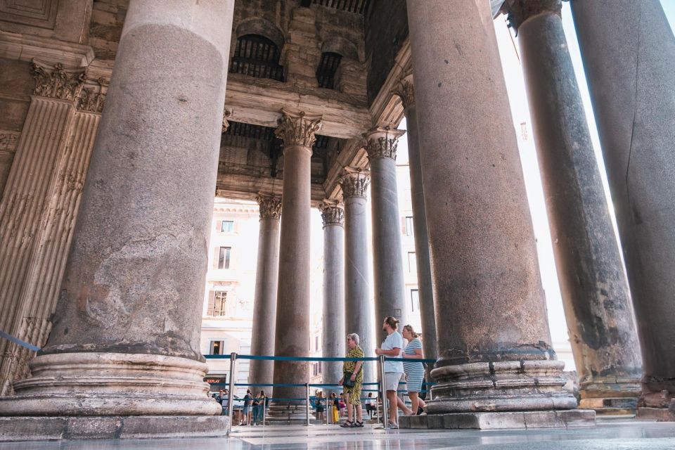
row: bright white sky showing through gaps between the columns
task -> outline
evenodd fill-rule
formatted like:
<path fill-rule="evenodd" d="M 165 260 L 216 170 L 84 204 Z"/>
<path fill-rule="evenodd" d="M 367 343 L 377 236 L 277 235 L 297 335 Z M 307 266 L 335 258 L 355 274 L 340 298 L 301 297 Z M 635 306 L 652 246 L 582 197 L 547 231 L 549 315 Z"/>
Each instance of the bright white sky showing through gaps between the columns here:
<path fill-rule="evenodd" d="M 675 29 L 675 0 L 661 0 L 661 3 L 671 28 Z M 620 20 L 620 18 L 617 18 L 617 20 Z M 605 188 L 605 195 L 608 198 L 608 204 L 611 205 L 605 166 L 600 153 L 600 141 L 598 139 L 596 123 L 591 108 L 591 98 L 589 96 L 588 85 L 586 84 L 586 77 L 584 76 L 581 54 L 579 53 L 579 44 L 574 31 L 574 23 L 572 21 L 572 13 L 568 1 L 563 2 L 563 28 L 565 30 L 567 45 L 570 50 L 570 56 L 572 57 L 574 71 L 577 75 L 581 99 L 586 110 L 586 120 L 588 121 L 589 129 L 591 131 L 593 151 L 596 153 L 596 158 L 598 160 L 600 176 L 603 179 L 603 186 Z M 534 233 L 537 240 L 539 269 L 541 273 L 541 282 L 544 285 L 546 293 L 551 339 L 554 347 L 556 345 L 567 345 L 567 326 L 565 324 L 563 302 L 560 297 L 560 288 L 558 286 L 558 276 L 555 273 L 553 248 L 548 231 L 546 207 L 544 205 L 544 193 L 541 188 L 539 166 L 536 160 L 536 149 L 534 148 L 534 139 L 532 137 L 532 121 L 529 117 L 525 82 L 522 75 L 522 68 L 520 67 L 520 60 L 518 59 L 518 38 L 513 36 L 510 29 L 506 26 L 506 19 L 503 15 L 495 20 L 495 32 L 501 55 L 503 73 L 506 79 L 511 114 L 513 115 L 513 126 L 518 136 L 520 158 L 523 174 L 525 175 L 525 187 L 527 190 L 530 212 L 532 214 Z M 522 127 L 523 122 L 525 122 L 525 130 L 523 130 Z M 404 129 L 405 126 L 406 124 L 404 121 L 401 122 L 399 128 Z M 523 139 L 523 131 L 527 133 L 527 139 Z M 407 135 L 404 135 L 399 142 L 399 160 L 397 161 L 399 164 L 401 163 L 401 160 L 407 160 L 406 137 Z M 399 191 L 400 190 L 401 189 L 399 188 Z M 612 215 L 612 221 L 614 221 L 613 210 L 610 210 L 610 213 Z M 368 220 L 368 226 L 370 225 L 371 222 Z M 368 236 L 372 236 L 371 230 L 368 230 Z M 313 255 L 312 266 L 320 266 L 323 257 L 323 231 L 321 215 L 318 210 L 312 211 L 311 249 Z M 321 309 L 321 280 L 312 280 L 312 285 L 312 309 Z M 563 360 L 565 361 L 565 370 L 574 370 L 574 361 L 572 361 L 571 358 L 563 358 Z"/>

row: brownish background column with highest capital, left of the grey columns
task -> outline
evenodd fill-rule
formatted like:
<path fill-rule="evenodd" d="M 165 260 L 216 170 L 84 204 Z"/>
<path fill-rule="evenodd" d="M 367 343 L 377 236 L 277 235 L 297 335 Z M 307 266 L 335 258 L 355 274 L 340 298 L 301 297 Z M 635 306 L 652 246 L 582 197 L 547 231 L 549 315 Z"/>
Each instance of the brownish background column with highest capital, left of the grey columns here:
<path fill-rule="evenodd" d="M 282 111 L 276 135 L 283 139 L 283 195 L 275 356 L 307 356 L 309 324 L 309 233 L 311 213 L 311 146 L 321 129 L 321 116 Z M 274 383 L 307 383 L 305 361 L 274 361 Z M 274 397 L 302 399 L 277 402 L 276 416 L 304 418 L 304 387 L 274 387 Z M 294 405 L 293 408 L 281 406 Z"/>

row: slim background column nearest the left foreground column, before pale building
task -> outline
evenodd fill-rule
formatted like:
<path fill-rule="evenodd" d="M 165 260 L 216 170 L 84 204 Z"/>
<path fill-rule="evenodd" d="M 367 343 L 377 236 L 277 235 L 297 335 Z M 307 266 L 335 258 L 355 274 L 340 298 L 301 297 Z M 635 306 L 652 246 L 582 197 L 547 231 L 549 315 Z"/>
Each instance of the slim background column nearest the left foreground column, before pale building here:
<path fill-rule="evenodd" d="M 258 205 L 260 205 L 260 231 L 255 271 L 251 354 L 270 356 L 274 355 L 276 328 L 281 198 L 274 195 L 258 195 Z M 274 361 L 257 359 L 250 361 L 248 381 L 254 384 L 271 384 L 274 381 Z M 260 392 L 261 389 L 268 397 L 271 396 L 271 387 L 251 387 L 252 392 Z"/>

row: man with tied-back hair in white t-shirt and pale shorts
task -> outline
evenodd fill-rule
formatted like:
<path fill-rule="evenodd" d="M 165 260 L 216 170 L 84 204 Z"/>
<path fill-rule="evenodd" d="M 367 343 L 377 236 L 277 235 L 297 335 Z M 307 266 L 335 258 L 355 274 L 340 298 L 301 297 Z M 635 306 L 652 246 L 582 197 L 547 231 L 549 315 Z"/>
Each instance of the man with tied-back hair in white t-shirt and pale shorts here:
<path fill-rule="evenodd" d="M 401 349 L 403 349 L 403 336 L 397 331 L 399 321 L 394 317 L 387 317 L 382 324 L 382 330 L 387 332 L 387 338 L 382 343 L 382 347 L 375 349 L 375 354 L 390 356 L 391 358 L 400 358 Z M 385 361 L 385 390 L 387 391 L 387 401 L 389 401 L 389 426 L 390 428 L 399 428 L 396 408 L 399 406 L 406 415 L 412 411 L 397 397 L 396 391 L 399 387 L 399 381 L 404 376 L 403 361 Z"/>

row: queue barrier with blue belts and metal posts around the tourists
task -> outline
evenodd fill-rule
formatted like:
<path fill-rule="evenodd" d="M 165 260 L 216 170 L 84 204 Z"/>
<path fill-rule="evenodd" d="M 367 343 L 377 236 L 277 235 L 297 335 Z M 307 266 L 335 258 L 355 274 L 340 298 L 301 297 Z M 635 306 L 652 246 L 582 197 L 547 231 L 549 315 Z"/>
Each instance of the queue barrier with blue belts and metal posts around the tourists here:
<path fill-rule="evenodd" d="M 228 425 L 228 430 L 227 430 L 227 435 L 230 434 L 232 430 L 232 417 L 233 417 L 233 410 L 234 410 L 234 401 L 242 401 L 242 399 L 235 399 L 234 398 L 234 387 L 235 386 L 266 386 L 266 387 L 304 387 L 305 388 L 305 397 L 304 399 L 300 398 L 295 398 L 295 399 L 280 399 L 277 398 L 276 401 L 302 401 L 304 400 L 307 405 L 307 413 L 306 413 L 306 425 L 309 426 L 309 409 L 310 408 L 310 395 L 309 395 L 309 389 L 310 387 L 333 387 L 333 386 L 339 386 L 338 384 L 331 384 L 331 383 L 319 383 L 319 384 L 311 384 L 311 383 L 234 383 L 234 378 L 233 374 L 236 373 L 236 362 L 238 359 L 257 359 L 257 360 L 265 360 L 265 361 L 321 361 L 321 362 L 345 362 L 345 361 L 378 361 L 378 366 L 379 366 L 379 372 L 380 372 L 380 380 L 385 379 L 385 362 L 386 361 L 401 361 L 401 362 L 411 362 L 410 359 L 406 358 L 392 358 L 390 356 L 385 356 L 385 355 L 380 355 L 378 357 L 364 357 L 364 358 L 340 358 L 340 357 L 321 357 L 321 356 L 261 356 L 261 355 L 251 355 L 251 354 L 236 354 L 236 353 L 231 353 L 231 354 L 210 354 L 210 355 L 203 355 L 205 359 L 229 359 L 230 360 L 230 383 L 229 383 L 229 390 L 228 390 L 228 406 L 231 406 L 228 408 L 228 416 L 230 418 L 229 420 L 229 425 Z M 430 363 L 434 364 L 436 362 L 435 359 L 415 359 L 414 362 L 419 362 L 419 363 Z M 384 383 L 363 383 L 363 385 L 379 385 L 378 390 L 362 390 L 366 392 L 379 392 L 380 398 L 382 399 L 382 406 L 383 406 L 383 414 L 381 416 L 382 419 L 382 425 L 383 428 L 386 430 L 389 428 L 388 425 L 388 420 L 387 420 L 387 392 L 385 390 L 385 385 Z M 400 382 L 399 385 L 405 384 L 403 382 Z M 430 383 L 425 383 L 425 385 L 430 385 Z M 397 390 L 397 392 L 406 392 L 405 390 Z M 431 392 L 431 391 L 422 391 L 422 392 Z M 361 398 L 363 399 L 363 398 Z M 366 397 L 367 399 L 367 397 Z M 269 401 L 274 401 L 273 399 L 269 399 Z M 263 411 L 263 425 L 264 425 L 264 418 L 266 416 L 266 404 L 267 404 L 267 399 L 264 402 L 265 403 L 265 409 Z M 326 406 L 328 406 L 328 403 L 326 403 Z M 328 408 L 326 408 L 328 409 Z M 379 414 L 379 408 L 377 408 L 378 414 Z"/>

